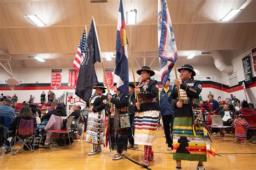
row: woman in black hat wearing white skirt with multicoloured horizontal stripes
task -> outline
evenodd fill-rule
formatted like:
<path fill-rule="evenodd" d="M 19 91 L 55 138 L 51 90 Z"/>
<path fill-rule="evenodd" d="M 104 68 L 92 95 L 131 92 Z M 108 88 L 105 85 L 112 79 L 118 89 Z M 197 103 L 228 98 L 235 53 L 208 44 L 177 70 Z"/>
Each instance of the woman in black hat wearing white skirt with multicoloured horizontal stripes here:
<path fill-rule="evenodd" d="M 152 145 L 156 136 L 159 117 L 159 107 L 156 103 L 158 85 L 156 80 L 150 79 L 154 75 L 154 71 L 150 67 L 143 66 L 142 69 L 137 70 L 137 73 L 142 81 L 134 89 L 134 93 L 138 94 L 139 99 L 139 102 L 135 104 L 134 144 L 144 145 L 144 161 L 140 163 L 140 166 L 148 167 L 150 161 L 154 159 Z"/>

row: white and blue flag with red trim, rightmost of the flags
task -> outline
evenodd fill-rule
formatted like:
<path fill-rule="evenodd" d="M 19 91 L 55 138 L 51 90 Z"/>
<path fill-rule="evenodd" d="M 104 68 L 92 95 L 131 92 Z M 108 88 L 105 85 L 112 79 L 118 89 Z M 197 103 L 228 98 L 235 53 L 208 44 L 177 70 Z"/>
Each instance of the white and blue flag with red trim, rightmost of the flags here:
<path fill-rule="evenodd" d="M 165 83 L 177 60 L 177 47 L 166 0 L 158 0 L 158 56 L 161 82 Z"/>

